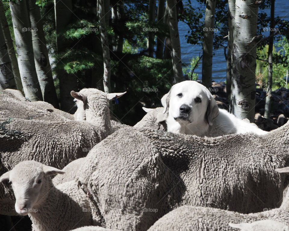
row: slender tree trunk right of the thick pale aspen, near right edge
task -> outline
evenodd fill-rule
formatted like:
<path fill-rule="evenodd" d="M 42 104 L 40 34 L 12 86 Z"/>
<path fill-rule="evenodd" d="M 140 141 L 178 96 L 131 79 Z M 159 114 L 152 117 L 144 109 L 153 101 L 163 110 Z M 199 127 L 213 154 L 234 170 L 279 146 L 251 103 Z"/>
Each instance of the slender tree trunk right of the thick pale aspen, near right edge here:
<path fill-rule="evenodd" d="M 274 14 L 275 14 L 275 0 L 271 0 L 271 11 L 270 11 L 270 38 L 269 38 L 269 48 L 268 48 L 268 82 L 267 82 L 267 96 L 265 103 L 265 118 L 270 118 L 270 109 L 271 109 L 271 97 L 272 97 L 272 76 L 273 76 L 273 43 L 274 43 Z"/>

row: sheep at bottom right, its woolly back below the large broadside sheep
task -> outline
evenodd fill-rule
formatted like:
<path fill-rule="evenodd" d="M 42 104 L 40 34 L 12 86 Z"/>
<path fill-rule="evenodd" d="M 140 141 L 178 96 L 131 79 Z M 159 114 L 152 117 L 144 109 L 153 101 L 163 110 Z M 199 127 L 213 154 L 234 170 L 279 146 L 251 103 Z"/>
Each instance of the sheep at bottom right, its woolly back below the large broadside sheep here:
<path fill-rule="evenodd" d="M 289 167 L 276 169 L 279 173 L 289 173 Z M 229 231 L 233 228 L 241 230 L 289 230 L 288 220 L 289 191 L 287 191 L 280 208 L 259 213 L 240 214 L 237 212 L 217 208 L 204 208 L 194 206 L 179 207 L 160 218 L 148 231 Z M 246 224 L 247 222 L 252 222 Z M 233 224 L 241 223 L 241 224 Z M 184 225 L 185 224 L 185 225 Z M 228 225 L 229 224 L 229 225 Z M 230 227 L 231 226 L 231 227 Z M 264 229 L 267 228 L 267 229 Z"/>

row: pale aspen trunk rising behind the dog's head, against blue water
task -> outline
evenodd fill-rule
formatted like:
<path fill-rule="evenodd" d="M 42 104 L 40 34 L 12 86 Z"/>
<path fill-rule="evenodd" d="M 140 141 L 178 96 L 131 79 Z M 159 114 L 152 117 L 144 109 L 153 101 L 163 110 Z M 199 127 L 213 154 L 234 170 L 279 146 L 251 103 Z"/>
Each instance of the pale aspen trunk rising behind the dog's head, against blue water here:
<path fill-rule="evenodd" d="M 212 59 L 216 0 L 207 0 L 204 23 L 204 42 L 202 58 L 202 82 L 206 88 L 212 86 Z"/>

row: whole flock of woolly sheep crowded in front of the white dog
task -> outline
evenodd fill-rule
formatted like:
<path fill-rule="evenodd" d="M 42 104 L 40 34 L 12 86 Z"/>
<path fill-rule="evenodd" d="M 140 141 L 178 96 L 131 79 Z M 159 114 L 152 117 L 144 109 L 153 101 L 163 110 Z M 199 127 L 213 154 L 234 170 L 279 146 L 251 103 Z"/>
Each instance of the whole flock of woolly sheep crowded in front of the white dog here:
<path fill-rule="evenodd" d="M 109 115 L 123 94 L 72 91 L 73 117 L 0 91 L 0 214 L 35 231 L 289 231 L 289 123 L 197 137 L 156 108 L 130 127 Z"/>

